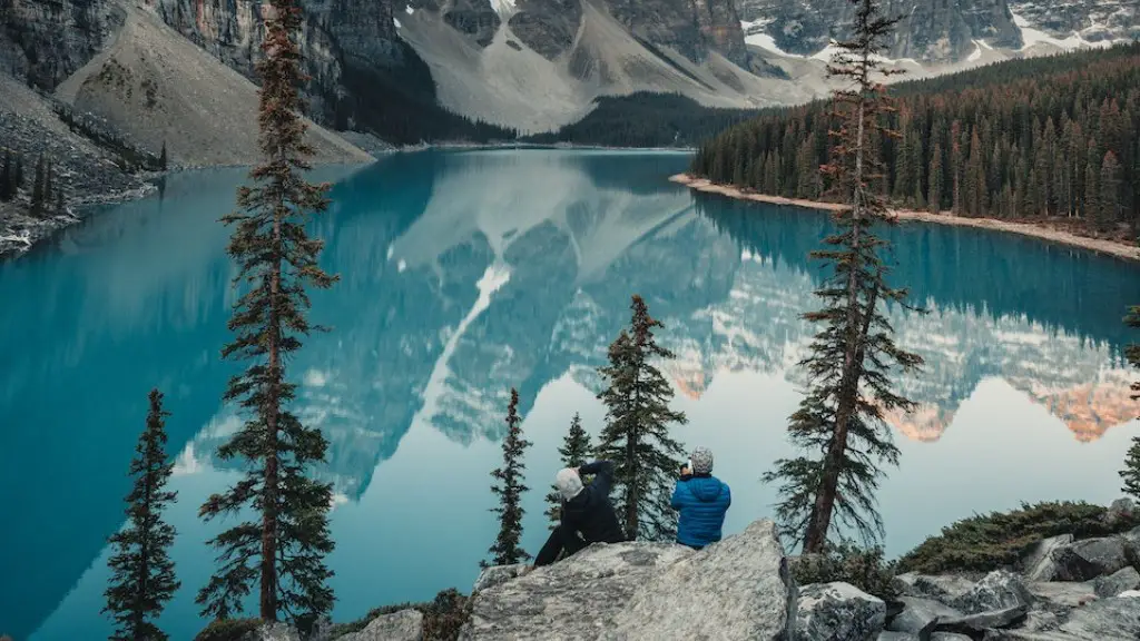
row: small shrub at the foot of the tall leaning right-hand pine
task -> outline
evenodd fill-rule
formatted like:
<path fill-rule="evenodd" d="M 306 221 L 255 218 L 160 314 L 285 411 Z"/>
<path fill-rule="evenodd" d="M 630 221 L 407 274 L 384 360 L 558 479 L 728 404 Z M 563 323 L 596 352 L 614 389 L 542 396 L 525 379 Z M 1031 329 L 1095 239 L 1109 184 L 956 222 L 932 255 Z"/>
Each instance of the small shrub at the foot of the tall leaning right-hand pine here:
<path fill-rule="evenodd" d="M 882 600 L 898 597 L 894 563 L 882 560 L 881 547 L 832 545 L 822 554 L 806 554 L 791 565 L 798 585 L 841 581 Z"/>

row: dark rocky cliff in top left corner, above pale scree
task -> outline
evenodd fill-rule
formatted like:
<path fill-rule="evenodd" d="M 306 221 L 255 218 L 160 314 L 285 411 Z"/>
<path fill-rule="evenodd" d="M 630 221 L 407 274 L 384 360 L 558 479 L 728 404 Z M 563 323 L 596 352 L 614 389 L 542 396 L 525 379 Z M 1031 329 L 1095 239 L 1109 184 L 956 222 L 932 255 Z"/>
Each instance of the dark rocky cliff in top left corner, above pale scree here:
<path fill-rule="evenodd" d="M 105 0 L 0 0 L 0 68 L 55 89 L 95 56 L 121 21 Z"/>

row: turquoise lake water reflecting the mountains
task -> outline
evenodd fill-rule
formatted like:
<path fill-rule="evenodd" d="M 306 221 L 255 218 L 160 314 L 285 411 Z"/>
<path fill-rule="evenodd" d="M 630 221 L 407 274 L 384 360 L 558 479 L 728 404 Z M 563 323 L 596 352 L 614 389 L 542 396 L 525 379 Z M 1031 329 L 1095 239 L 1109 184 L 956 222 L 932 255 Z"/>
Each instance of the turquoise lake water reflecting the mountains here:
<path fill-rule="evenodd" d="M 488 472 L 511 386 L 527 455 L 524 546 L 546 533 L 542 496 L 555 447 L 594 396 L 606 344 L 640 293 L 678 358 L 665 365 L 690 446 L 716 454 L 733 488 L 726 529 L 771 512 L 758 482 L 788 455 L 795 363 L 811 327 L 819 267 L 806 254 L 823 214 L 715 196 L 666 181 L 667 153 L 465 152 L 326 170 L 335 204 L 315 224 L 342 281 L 314 300 L 333 332 L 291 364 L 298 408 L 331 447 L 335 618 L 466 591 L 496 524 Z M 52 246 L 0 265 L 0 633 L 16 641 L 106 638 L 99 615 L 106 537 L 122 497 L 146 395 L 172 416 L 168 519 L 184 590 L 162 625 L 202 623 L 194 593 L 217 526 L 196 512 L 234 482 L 213 452 L 236 428 L 220 404 L 219 359 L 234 270 L 217 218 L 241 171 L 169 177 L 162 197 L 111 208 Z M 895 271 L 927 316 L 891 310 L 898 342 L 927 370 L 899 381 L 920 403 L 891 416 L 902 464 L 879 494 L 891 555 L 955 519 L 1020 501 L 1118 496 L 1137 432 L 1131 340 L 1138 268 L 1039 241 L 904 225 Z"/>

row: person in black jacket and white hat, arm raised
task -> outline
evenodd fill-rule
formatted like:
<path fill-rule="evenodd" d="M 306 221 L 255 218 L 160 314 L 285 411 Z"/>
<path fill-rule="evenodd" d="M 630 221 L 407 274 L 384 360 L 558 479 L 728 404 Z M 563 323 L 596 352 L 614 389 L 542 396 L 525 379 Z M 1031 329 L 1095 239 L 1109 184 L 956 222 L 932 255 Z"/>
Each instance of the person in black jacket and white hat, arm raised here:
<path fill-rule="evenodd" d="M 594 480 L 584 486 L 581 474 L 594 474 Z M 563 551 L 569 557 L 591 543 L 626 539 L 610 503 L 613 463 L 595 461 L 577 469 L 559 470 L 554 485 L 562 494 L 562 522 L 551 532 L 546 545 L 538 552 L 536 568 L 553 563 Z"/>

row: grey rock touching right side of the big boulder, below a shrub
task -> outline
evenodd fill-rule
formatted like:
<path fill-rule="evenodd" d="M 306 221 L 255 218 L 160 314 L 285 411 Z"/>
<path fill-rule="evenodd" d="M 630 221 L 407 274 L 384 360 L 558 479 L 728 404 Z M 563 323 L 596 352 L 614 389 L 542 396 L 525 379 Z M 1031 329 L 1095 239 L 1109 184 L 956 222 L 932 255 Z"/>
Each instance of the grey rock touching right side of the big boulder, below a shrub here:
<path fill-rule="evenodd" d="M 887 606 L 848 583 L 813 583 L 799 591 L 792 641 L 844 639 L 874 641 L 882 632 Z"/>

